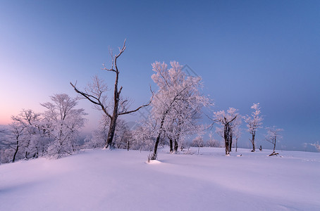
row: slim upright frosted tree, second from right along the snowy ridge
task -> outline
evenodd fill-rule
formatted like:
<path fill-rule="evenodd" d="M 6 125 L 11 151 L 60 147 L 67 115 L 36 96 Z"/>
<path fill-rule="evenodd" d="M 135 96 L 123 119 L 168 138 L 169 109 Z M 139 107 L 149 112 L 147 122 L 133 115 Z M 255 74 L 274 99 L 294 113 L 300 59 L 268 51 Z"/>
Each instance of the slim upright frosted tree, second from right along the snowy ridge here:
<path fill-rule="evenodd" d="M 259 103 L 254 103 L 251 108 L 254 109 L 254 111 L 251 113 L 251 116 L 247 115 L 247 117 L 245 118 L 245 122 L 247 123 L 247 132 L 250 132 L 250 134 L 252 135 L 250 141 L 252 143 L 252 152 L 254 152 L 256 151 L 254 139 L 257 129 L 261 127 L 263 118 L 261 117 L 261 108 L 259 106 Z"/>

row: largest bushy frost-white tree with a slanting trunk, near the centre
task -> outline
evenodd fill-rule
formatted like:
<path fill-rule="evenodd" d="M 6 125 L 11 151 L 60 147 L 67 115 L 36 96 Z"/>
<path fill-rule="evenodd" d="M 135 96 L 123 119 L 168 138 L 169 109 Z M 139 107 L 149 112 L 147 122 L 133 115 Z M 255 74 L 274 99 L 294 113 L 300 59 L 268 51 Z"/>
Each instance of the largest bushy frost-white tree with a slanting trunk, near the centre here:
<path fill-rule="evenodd" d="M 168 132 L 172 139 L 179 139 L 195 125 L 195 116 L 201 113 L 202 106 L 209 104 L 209 99 L 199 93 L 202 87 L 200 77 L 190 77 L 182 70 L 179 63 L 171 62 L 152 64 L 153 81 L 159 87 L 152 101 L 152 119 L 156 121 L 156 141 L 151 160 L 156 159 L 159 141 Z M 174 136 L 174 137 L 173 137 Z M 178 148 L 178 147 L 175 147 Z"/>

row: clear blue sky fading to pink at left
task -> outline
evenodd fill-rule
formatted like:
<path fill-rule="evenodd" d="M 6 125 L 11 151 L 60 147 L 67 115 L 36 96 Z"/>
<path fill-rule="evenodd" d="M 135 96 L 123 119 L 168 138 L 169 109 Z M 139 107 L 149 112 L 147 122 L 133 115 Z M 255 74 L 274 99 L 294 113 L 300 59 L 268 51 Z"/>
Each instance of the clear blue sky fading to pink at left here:
<path fill-rule="evenodd" d="M 102 64 L 126 39 L 119 84 L 133 108 L 156 89 L 151 64 L 176 60 L 202 77 L 213 111 L 248 115 L 260 103 L 263 126 L 284 129 L 278 147 L 306 150 L 320 141 L 319 11 L 320 1 L 0 1 L 0 124 L 23 108 L 43 112 L 53 94 L 75 97 L 70 82 L 98 75 L 112 87 Z M 79 107 L 85 130 L 97 127 L 101 113 Z M 269 148 L 265 133 L 258 146 Z M 244 129 L 240 142 L 249 138 Z"/>

